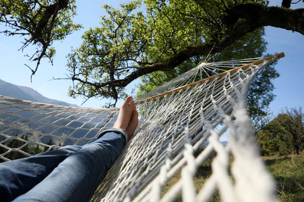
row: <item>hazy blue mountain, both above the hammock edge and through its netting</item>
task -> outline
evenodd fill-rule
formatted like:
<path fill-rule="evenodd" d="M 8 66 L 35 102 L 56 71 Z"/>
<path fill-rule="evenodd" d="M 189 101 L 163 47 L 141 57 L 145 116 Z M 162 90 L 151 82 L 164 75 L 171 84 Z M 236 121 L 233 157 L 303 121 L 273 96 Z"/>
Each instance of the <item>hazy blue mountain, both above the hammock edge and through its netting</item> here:
<path fill-rule="evenodd" d="M 65 103 L 65 102 L 62 102 L 59 100 L 49 99 L 30 87 L 14 85 L 14 84 L 8 83 L 3 80 L 0 80 L 0 95 L 10 96 L 10 97 L 17 98 L 17 99 L 31 100 L 31 101 L 39 102 L 39 103 L 78 107 L 77 105 L 72 105 L 72 104 Z M 6 105 L 0 104 L 0 111 L 2 108 L 6 108 L 6 107 L 7 107 Z M 3 113 L 5 111 L 15 112 L 15 114 Z M 48 112 L 50 113 L 51 111 L 52 110 L 49 109 Z M 46 117 L 45 114 L 42 114 L 41 116 L 37 116 L 37 113 L 46 113 L 46 112 L 43 110 L 35 111 L 35 114 L 34 114 L 29 111 L 19 111 L 18 109 L 14 108 L 14 107 L 6 108 L 5 110 L 2 110 L 0 113 L 0 123 L 2 123 L 2 124 L 14 123 L 18 127 L 17 128 L 12 127 L 8 130 L 7 125 L 0 124 L 1 133 L 9 135 L 9 136 L 14 136 L 14 135 L 24 133 L 25 131 L 35 130 L 36 128 L 39 128 L 39 130 L 37 130 L 37 131 L 27 132 L 26 133 L 26 135 L 28 136 L 27 138 L 29 140 L 34 140 L 34 139 L 39 138 L 39 136 L 40 136 L 39 133 L 43 133 L 43 134 L 51 133 L 52 135 L 56 135 L 58 137 L 45 135 L 39 141 L 43 142 L 43 143 L 47 143 L 49 140 L 52 140 L 53 142 L 57 143 L 59 140 L 62 139 L 62 137 L 71 135 L 71 133 L 72 133 L 71 138 L 83 137 L 84 134 L 86 134 L 88 132 L 85 129 L 94 128 L 96 125 L 94 123 L 87 123 L 85 126 L 83 126 L 83 124 L 84 124 L 83 122 L 88 122 L 90 120 L 90 118 L 82 118 L 81 121 L 83 121 L 83 122 L 80 122 L 80 121 L 73 121 L 73 120 L 79 119 L 79 117 L 69 116 L 68 120 L 67 120 L 65 118 L 67 118 L 68 115 L 66 115 L 66 114 L 59 115 L 56 111 L 54 111 L 52 114 L 49 114 L 49 115 L 52 115 L 49 118 Z M 32 118 L 33 116 L 35 116 L 35 118 Z M 62 120 L 59 120 L 59 119 L 62 119 Z M 55 120 L 57 120 L 57 122 L 54 125 L 47 125 L 49 123 L 53 123 Z M 68 126 L 61 127 L 60 129 L 58 129 L 58 127 L 65 126 L 69 122 L 71 122 L 71 123 Z M 44 124 L 46 124 L 46 125 L 44 125 Z M 75 131 L 76 128 L 80 128 L 80 127 L 82 127 L 82 129 Z M 102 127 L 102 126 L 100 126 L 100 127 Z M 58 130 L 56 130 L 56 129 L 58 129 Z M 92 138 L 97 134 L 98 131 L 99 131 L 99 128 L 92 130 L 92 131 L 90 131 L 90 133 L 88 133 L 86 135 L 86 137 Z M 0 134 L 0 140 L 2 140 L 3 138 L 4 138 L 4 136 Z M 74 144 L 76 141 L 77 140 L 75 140 L 75 139 L 68 138 L 68 139 L 61 141 L 61 145 Z M 86 141 L 87 140 L 81 140 L 81 141 L 79 141 L 79 143 L 85 144 Z"/>

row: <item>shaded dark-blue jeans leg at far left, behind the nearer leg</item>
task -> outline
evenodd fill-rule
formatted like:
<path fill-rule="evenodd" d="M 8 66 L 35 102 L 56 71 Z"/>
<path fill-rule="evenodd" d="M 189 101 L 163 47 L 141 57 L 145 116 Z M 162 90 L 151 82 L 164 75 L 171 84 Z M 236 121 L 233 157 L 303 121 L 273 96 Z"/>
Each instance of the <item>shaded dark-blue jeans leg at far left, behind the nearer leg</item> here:
<path fill-rule="evenodd" d="M 64 146 L 32 157 L 0 164 L 0 201 L 11 201 L 46 178 L 81 146 Z"/>

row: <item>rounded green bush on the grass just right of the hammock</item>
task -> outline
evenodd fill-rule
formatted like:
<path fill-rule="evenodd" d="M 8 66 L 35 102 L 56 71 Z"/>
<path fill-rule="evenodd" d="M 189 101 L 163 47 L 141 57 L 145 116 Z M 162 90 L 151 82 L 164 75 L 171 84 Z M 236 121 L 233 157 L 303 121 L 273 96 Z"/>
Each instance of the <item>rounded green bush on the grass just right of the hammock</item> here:
<path fill-rule="evenodd" d="M 256 138 L 263 156 L 288 155 L 293 151 L 293 137 L 277 118 L 258 131 Z"/>

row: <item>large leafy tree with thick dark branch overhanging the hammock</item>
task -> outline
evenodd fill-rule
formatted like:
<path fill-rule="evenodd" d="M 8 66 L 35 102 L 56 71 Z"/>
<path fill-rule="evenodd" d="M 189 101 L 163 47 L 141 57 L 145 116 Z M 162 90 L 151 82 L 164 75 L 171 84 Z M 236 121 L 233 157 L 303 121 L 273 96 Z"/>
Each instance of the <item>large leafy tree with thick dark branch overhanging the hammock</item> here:
<path fill-rule="evenodd" d="M 123 4 L 121 10 L 104 6 L 109 17 L 103 16 L 101 27 L 87 31 L 83 44 L 68 55 L 71 96 L 112 98 L 115 106 L 126 96 L 124 87 L 140 76 L 178 72 L 174 68 L 182 69 L 185 61 L 192 66 L 211 49 L 213 55 L 222 53 L 264 26 L 304 34 L 304 9 L 267 7 L 265 1 L 144 3 L 147 15 L 135 13 L 141 1 Z"/>

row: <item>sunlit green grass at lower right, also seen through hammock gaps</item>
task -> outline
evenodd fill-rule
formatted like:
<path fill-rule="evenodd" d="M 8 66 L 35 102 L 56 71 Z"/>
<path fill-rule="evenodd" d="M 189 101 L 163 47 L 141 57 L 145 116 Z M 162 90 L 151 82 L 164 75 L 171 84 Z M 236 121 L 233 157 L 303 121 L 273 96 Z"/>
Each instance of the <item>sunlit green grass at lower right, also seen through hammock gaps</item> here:
<path fill-rule="evenodd" d="M 304 151 L 301 155 L 283 157 L 263 157 L 267 169 L 277 182 L 276 195 L 283 202 L 304 201 Z M 199 167 L 194 178 L 197 192 L 201 189 L 206 179 L 212 174 L 212 159 L 208 159 Z M 164 187 L 162 196 L 180 179 L 177 173 Z M 175 201 L 182 201 L 181 194 Z M 215 192 L 210 201 L 221 201 L 218 192 Z"/>

